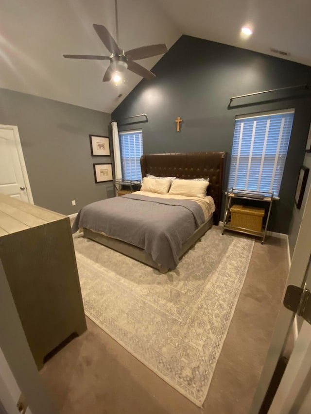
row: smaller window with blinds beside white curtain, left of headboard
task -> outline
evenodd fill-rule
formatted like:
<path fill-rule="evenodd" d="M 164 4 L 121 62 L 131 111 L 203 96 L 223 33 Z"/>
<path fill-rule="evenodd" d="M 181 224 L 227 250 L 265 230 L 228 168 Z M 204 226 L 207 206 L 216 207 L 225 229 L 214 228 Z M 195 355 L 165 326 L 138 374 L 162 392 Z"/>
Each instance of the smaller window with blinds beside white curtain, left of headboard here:
<path fill-rule="evenodd" d="M 123 180 L 141 180 L 142 131 L 119 133 Z"/>

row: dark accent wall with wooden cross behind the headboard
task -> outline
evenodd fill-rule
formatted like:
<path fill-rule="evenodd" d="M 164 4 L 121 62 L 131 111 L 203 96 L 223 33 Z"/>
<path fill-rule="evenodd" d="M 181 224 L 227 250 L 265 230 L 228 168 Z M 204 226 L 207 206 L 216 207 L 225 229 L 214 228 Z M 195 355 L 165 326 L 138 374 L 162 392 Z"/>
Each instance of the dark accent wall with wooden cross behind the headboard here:
<path fill-rule="evenodd" d="M 273 203 L 269 223 L 269 230 L 287 233 L 311 120 L 310 90 L 270 93 L 236 100 L 231 109 L 227 106 L 232 96 L 310 84 L 311 67 L 183 35 L 153 70 L 157 77 L 142 80 L 112 113 L 120 120 L 120 130 L 142 129 L 145 154 L 209 150 L 230 154 L 235 116 L 295 108 L 280 200 Z M 304 99 L 293 97 L 297 95 Z M 282 99 L 272 100 L 278 98 Z M 123 117 L 142 113 L 147 114 L 147 123 L 121 125 Z M 177 116 L 184 121 L 180 133 L 174 122 Z M 230 156 L 225 186 L 229 164 Z"/>

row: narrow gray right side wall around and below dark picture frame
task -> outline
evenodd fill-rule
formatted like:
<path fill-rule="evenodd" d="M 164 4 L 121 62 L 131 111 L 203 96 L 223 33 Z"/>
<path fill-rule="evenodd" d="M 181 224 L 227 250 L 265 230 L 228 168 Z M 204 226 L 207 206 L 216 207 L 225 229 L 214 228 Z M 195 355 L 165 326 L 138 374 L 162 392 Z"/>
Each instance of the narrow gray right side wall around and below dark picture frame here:
<path fill-rule="evenodd" d="M 311 170 L 311 153 L 306 153 L 303 165 L 310 168 Z M 306 206 L 307 196 L 308 196 L 310 189 L 311 189 L 311 171 L 309 171 L 308 181 L 307 181 L 307 185 L 305 189 L 304 198 L 302 200 L 301 208 L 300 210 L 298 210 L 296 206 L 294 206 L 294 209 L 293 209 L 292 220 L 291 220 L 291 224 L 290 224 L 289 232 L 288 232 L 288 242 L 290 246 L 291 257 L 293 257 L 293 254 L 294 254 L 294 248 L 296 246 L 298 232 L 300 229 L 302 216 L 303 216 L 305 206 Z"/>

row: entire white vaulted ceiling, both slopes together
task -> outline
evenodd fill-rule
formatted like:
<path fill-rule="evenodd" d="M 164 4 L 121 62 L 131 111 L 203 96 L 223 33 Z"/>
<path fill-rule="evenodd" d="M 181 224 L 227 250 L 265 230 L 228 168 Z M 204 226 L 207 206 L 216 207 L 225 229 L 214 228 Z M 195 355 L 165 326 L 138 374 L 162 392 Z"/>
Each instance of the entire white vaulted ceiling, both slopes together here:
<path fill-rule="evenodd" d="M 170 48 L 189 34 L 275 56 L 270 47 L 289 51 L 287 59 L 311 66 L 310 0 L 118 0 L 118 9 L 124 50 Z M 0 0 L 0 87 L 111 113 L 141 78 L 127 71 L 115 87 L 102 82 L 109 62 L 62 57 L 109 54 L 93 23 L 115 36 L 114 0 Z M 247 40 L 244 24 L 254 29 Z M 139 63 L 150 69 L 160 57 Z"/>

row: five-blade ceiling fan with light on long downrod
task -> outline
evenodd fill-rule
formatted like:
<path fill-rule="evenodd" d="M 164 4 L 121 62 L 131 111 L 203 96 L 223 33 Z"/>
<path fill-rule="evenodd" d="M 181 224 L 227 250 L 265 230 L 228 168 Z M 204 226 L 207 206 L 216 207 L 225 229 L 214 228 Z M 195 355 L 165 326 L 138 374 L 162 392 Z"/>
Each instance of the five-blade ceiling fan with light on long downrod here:
<path fill-rule="evenodd" d="M 117 0 L 115 0 L 115 10 L 116 10 L 116 38 L 117 42 L 108 32 L 108 30 L 100 25 L 93 24 L 95 32 L 98 34 L 101 41 L 104 43 L 104 46 L 111 53 L 110 56 L 97 56 L 97 55 L 63 55 L 65 58 L 69 59 L 89 59 L 89 60 L 110 60 L 110 65 L 106 70 L 103 78 L 103 82 L 108 82 L 111 79 L 115 83 L 118 83 L 123 78 L 123 72 L 128 69 L 131 72 L 136 73 L 137 75 L 146 78 L 153 79 L 155 74 L 145 67 L 139 65 L 136 60 L 145 59 L 148 57 L 160 55 L 168 51 L 165 44 L 157 44 L 150 46 L 142 46 L 140 48 L 131 49 L 124 51 L 118 46 L 118 9 L 117 9 Z"/>

